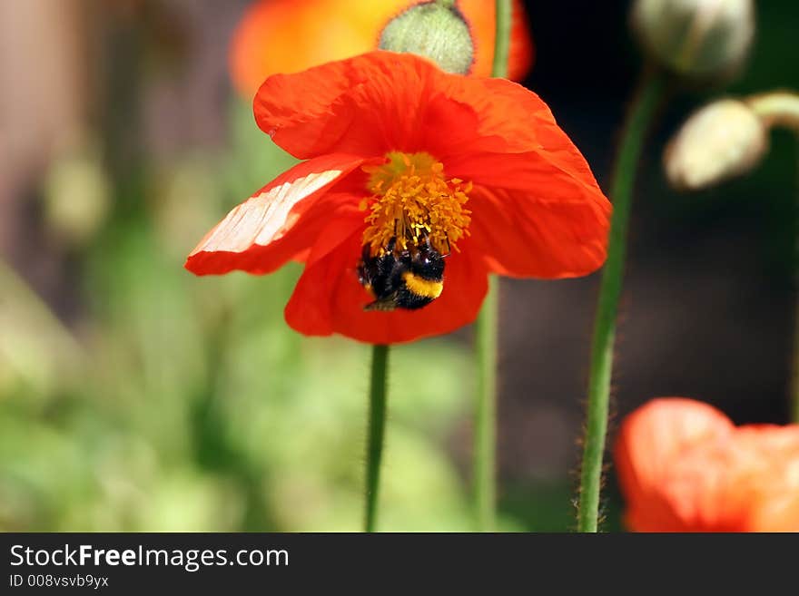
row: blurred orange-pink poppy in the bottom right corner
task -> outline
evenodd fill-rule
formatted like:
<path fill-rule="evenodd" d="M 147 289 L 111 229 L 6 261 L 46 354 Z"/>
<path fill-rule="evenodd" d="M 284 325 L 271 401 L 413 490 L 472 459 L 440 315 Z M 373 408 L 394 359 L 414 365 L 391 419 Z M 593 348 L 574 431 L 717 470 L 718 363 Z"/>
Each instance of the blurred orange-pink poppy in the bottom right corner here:
<path fill-rule="evenodd" d="M 636 532 L 799 532 L 799 425 L 659 398 L 626 417 L 615 455 Z"/>

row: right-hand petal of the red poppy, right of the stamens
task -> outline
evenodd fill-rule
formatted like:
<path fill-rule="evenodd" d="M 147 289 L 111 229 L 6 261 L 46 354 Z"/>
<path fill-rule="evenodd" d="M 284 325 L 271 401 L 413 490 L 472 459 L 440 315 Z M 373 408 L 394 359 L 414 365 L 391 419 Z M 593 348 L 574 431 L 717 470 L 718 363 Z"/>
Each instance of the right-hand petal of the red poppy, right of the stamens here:
<path fill-rule="evenodd" d="M 571 278 L 605 262 L 607 200 L 544 200 L 538 193 L 475 187 L 469 232 L 490 271 L 509 277 Z"/>

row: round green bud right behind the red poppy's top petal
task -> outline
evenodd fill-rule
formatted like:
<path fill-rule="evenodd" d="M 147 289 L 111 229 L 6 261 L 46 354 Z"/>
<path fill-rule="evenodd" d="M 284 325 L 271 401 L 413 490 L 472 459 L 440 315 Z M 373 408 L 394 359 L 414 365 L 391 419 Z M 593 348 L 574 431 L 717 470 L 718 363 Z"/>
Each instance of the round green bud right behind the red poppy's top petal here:
<path fill-rule="evenodd" d="M 380 34 L 380 49 L 425 56 L 448 73 L 469 73 L 474 62 L 469 25 L 453 0 L 423 2 L 395 16 Z"/>

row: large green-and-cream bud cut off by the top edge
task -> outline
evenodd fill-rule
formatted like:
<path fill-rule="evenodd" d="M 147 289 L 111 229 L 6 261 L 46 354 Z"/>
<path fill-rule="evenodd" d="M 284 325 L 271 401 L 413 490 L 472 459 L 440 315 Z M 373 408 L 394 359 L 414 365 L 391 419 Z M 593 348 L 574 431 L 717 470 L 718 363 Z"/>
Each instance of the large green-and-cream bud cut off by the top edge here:
<path fill-rule="evenodd" d="M 735 71 L 755 34 L 753 0 L 636 0 L 631 17 L 646 51 L 689 77 Z"/>

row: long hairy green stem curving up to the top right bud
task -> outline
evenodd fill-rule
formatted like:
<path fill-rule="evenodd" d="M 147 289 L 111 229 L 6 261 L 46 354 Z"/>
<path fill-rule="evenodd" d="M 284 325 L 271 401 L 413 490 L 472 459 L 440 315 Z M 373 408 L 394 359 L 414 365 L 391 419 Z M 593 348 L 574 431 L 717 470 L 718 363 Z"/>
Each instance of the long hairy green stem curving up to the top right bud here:
<path fill-rule="evenodd" d="M 613 200 L 613 218 L 607 245 L 607 261 L 599 287 L 594 338 L 591 345 L 586 436 L 577 514 L 579 532 L 597 532 L 602 459 L 605 454 L 607 410 L 613 367 L 613 343 L 616 337 L 618 298 L 621 294 L 624 273 L 627 223 L 630 217 L 633 183 L 646 131 L 660 103 L 664 87 L 665 82 L 661 73 L 652 73 L 645 77 L 627 113 L 624 134 L 617 154 L 616 170 L 610 191 Z"/>

